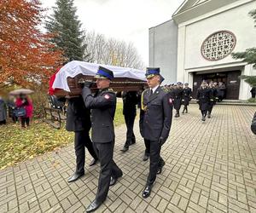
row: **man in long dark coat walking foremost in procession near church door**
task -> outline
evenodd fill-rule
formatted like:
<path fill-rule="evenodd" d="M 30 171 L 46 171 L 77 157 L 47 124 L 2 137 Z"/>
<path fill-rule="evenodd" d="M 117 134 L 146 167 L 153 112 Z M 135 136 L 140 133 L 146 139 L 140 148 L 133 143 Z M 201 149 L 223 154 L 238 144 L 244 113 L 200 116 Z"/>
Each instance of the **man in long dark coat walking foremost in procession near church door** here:
<path fill-rule="evenodd" d="M 201 110 L 201 120 L 205 121 L 211 101 L 211 89 L 207 88 L 206 82 L 202 82 L 201 87 L 197 89 L 196 101 L 199 104 L 199 109 Z"/>

